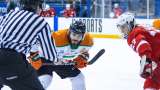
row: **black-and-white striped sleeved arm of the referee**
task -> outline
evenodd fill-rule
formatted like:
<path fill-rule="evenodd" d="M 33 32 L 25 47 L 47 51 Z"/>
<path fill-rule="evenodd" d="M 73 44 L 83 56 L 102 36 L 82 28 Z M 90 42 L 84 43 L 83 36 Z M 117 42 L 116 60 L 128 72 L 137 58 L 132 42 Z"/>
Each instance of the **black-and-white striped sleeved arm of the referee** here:
<path fill-rule="evenodd" d="M 58 62 L 58 54 L 56 51 L 55 41 L 52 38 L 52 30 L 47 23 L 39 34 L 41 48 L 44 57 L 47 60 Z"/>

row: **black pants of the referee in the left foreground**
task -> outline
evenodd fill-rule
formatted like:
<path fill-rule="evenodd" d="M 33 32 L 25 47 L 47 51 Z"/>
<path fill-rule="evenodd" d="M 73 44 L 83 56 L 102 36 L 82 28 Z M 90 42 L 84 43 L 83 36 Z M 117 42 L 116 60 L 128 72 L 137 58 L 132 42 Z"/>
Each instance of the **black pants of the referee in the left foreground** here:
<path fill-rule="evenodd" d="M 35 69 L 25 55 L 10 49 L 0 49 L 0 83 L 12 90 L 44 90 Z"/>

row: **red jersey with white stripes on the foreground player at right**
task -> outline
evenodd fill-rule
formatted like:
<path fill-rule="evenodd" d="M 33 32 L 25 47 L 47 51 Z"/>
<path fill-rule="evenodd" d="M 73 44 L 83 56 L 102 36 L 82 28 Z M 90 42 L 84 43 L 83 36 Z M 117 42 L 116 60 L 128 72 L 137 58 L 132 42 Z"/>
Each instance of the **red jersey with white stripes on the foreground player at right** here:
<path fill-rule="evenodd" d="M 139 54 L 146 55 L 155 63 L 159 62 L 160 58 L 160 32 L 137 26 L 127 38 L 128 45 Z"/>

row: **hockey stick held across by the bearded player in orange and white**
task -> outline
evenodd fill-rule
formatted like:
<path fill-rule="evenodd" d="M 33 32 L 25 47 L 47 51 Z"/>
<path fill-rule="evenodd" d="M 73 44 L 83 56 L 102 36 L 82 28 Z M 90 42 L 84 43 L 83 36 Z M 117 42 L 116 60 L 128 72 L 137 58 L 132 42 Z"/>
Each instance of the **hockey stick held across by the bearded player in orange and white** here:
<path fill-rule="evenodd" d="M 98 58 L 100 56 L 102 56 L 105 52 L 105 49 L 101 49 L 89 62 L 88 62 L 88 65 L 92 65 L 95 61 L 98 60 Z M 49 65 L 49 66 L 54 66 L 55 64 L 54 63 L 42 63 L 42 65 Z M 77 65 L 77 63 L 72 63 L 72 62 L 69 62 L 69 63 L 64 63 L 64 64 L 61 64 L 61 65 Z"/>

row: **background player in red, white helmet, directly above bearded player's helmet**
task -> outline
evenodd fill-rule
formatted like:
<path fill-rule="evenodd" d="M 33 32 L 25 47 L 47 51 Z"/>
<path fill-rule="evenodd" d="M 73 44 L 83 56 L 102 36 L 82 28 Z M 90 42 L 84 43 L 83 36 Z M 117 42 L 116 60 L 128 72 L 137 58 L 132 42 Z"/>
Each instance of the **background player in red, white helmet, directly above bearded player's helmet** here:
<path fill-rule="evenodd" d="M 66 5 L 66 9 L 64 9 L 62 17 L 76 17 L 76 13 L 72 8 L 70 8 L 70 4 Z"/>

